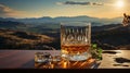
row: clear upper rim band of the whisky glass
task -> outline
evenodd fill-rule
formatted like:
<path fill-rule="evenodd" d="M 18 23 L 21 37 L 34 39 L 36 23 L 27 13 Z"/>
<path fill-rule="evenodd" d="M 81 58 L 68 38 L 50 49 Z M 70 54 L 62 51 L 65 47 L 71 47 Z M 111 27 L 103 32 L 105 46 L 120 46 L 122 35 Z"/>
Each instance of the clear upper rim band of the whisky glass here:
<path fill-rule="evenodd" d="M 61 22 L 63 26 L 88 26 L 91 25 L 90 22 Z"/>

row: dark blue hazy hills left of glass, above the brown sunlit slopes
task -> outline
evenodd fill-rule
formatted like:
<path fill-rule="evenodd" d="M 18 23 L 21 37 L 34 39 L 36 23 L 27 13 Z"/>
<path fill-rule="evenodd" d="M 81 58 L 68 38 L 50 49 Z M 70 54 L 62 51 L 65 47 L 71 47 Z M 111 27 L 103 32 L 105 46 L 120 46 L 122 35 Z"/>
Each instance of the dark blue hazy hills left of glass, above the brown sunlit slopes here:
<path fill-rule="evenodd" d="M 14 21 L 0 21 L 0 28 L 57 36 L 58 23 L 25 24 Z M 53 34 L 53 35 L 52 35 Z"/>

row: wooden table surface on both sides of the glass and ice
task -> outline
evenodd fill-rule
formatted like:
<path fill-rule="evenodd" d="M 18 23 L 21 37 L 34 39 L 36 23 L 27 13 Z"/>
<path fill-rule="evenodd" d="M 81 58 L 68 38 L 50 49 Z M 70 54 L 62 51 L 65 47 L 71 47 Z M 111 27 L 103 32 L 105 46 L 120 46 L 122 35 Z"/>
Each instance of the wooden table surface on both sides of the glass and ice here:
<path fill-rule="evenodd" d="M 0 50 L 0 69 L 35 69 L 38 51 L 60 54 L 60 50 Z M 130 69 L 130 50 L 103 50 L 98 69 Z"/>

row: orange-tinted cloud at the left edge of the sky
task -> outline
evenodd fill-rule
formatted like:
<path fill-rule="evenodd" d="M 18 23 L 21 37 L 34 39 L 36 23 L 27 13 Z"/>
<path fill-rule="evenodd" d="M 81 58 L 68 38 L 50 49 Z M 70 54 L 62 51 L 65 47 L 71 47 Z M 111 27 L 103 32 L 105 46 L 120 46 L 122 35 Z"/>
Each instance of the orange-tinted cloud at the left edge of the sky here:
<path fill-rule="evenodd" d="M 24 12 L 17 11 L 14 9 L 11 9 L 4 4 L 0 3 L 0 16 L 6 16 L 6 17 L 12 17 L 12 16 L 22 16 Z"/>

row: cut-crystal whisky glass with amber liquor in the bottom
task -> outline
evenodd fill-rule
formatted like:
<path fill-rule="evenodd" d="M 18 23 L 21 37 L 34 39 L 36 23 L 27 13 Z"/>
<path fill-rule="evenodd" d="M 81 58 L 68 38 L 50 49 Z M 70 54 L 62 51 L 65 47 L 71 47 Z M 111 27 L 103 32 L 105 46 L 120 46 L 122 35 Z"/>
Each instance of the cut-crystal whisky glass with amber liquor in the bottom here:
<path fill-rule="evenodd" d="M 61 23 L 62 57 L 69 61 L 83 61 L 91 57 L 91 23 Z"/>

